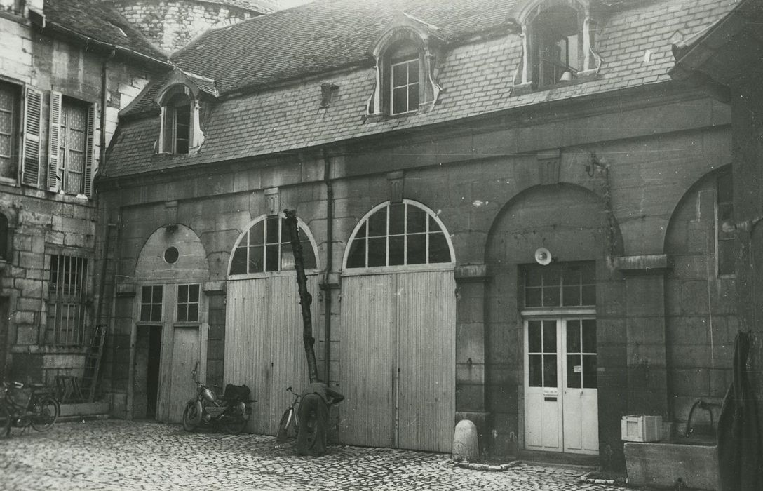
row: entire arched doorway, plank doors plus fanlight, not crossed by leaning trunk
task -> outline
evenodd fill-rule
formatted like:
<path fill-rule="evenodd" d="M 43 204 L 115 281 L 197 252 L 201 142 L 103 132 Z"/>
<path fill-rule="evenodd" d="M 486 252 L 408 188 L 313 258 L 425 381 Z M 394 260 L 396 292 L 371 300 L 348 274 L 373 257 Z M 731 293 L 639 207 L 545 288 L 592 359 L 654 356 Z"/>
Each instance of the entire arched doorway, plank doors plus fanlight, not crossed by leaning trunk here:
<path fill-rule="evenodd" d="M 382 203 L 356 225 L 342 276 L 342 441 L 451 450 L 454 266 L 445 225 L 420 203 Z"/>

